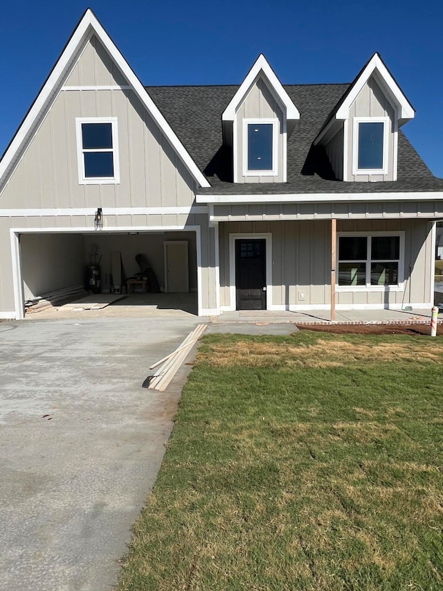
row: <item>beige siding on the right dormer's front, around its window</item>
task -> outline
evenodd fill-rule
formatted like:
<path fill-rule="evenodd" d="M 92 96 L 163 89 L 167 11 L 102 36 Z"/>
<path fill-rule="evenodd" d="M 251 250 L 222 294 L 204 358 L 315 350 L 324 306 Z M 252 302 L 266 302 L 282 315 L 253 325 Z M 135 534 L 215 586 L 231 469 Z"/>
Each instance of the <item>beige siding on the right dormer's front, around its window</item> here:
<path fill-rule="evenodd" d="M 353 175 L 353 141 L 354 141 L 354 117 L 388 117 L 388 173 L 386 175 Z M 345 181 L 376 182 L 392 181 L 394 179 L 394 141 L 395 141 L 395 111 L 390 105 L 376 80 L 372 76 L 359 92 L 350 108 L 349 125 L 347 125 L 347 177 Z"/>

